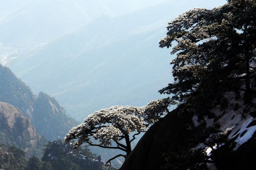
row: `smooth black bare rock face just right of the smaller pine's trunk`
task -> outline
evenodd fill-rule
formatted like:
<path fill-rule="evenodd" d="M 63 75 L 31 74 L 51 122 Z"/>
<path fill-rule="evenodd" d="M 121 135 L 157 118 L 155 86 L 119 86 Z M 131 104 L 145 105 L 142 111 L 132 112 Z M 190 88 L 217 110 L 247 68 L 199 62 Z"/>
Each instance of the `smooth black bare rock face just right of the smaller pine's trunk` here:
<path fill-rule="evenodd" d="M 120 170 L 160 169 L 164 165 L 163 152 L 173 142 L 180 142 L 182 145 L 185 135 L 180 135 L 179 132 L 186 130 L 186 122 L 188 120 L 177 117 L 177 109 L 160 119 L 143 135 Z"/>

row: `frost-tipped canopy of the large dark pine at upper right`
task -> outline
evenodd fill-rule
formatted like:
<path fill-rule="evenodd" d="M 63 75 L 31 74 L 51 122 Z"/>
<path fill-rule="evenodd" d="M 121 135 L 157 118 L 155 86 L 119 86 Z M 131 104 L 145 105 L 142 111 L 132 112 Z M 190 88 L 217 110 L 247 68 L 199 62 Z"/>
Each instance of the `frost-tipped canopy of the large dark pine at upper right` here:
<path fill-rule="evenodd" d="M 256 69 L 255 10 L 255 0 L 229 0 L 212 10 L 186 11 L 169 22 L 159 44 L 169 48 L 177 42 L 171 52 L 177 57 L 170 62 L 174 82 L 159 92 L 188 101 L 216 99 L 232 90 L 244 92 L 249 103 Z"/>

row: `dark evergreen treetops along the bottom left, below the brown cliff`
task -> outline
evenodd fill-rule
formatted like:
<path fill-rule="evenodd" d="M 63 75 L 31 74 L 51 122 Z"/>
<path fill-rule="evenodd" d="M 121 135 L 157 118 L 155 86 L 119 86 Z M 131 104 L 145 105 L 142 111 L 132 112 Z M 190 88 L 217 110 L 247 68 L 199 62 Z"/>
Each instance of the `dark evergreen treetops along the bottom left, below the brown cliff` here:
<path fill-rule="evenodd" d="M 85 146 L 73 152 L 73 144 L 61 140 L 45 145 L 42 161 L 33 156 L 25 158 L 26 153 L 15 146 L 0 145 L 0 169 L 6 170 L 102 170 L 96 155 Z M 4 155 L 4 156 L 3 156 Z"/>

